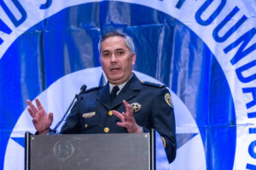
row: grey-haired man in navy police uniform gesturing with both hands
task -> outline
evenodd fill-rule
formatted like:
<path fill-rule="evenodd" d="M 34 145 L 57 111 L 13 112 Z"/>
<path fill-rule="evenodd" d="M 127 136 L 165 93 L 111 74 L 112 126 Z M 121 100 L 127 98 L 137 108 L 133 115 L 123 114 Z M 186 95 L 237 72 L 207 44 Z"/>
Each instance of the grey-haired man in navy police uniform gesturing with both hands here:
<path fill-rule="evenodd" d="M 169 162 L 176 156 L 175 118 L 170 92 L 163 85 L 141 82 L 132 73 L 136 61 L 131 37 L 117 31 L 99 42 L 102 70 L 107 85 L 90 88 L 61 127 L 61 133 L 143 133 L 154 128 L 161 135 Z M 49 133 L 53 113 L 47 114 L 39 100 L 27 110 L 38 134 Z"/>

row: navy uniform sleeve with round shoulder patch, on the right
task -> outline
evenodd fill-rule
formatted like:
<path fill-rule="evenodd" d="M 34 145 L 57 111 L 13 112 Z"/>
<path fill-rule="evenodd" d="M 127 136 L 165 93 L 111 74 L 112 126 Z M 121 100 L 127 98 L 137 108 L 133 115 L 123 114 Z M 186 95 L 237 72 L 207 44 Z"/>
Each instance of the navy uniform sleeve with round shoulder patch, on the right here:
<path fill-rule="evenodd" d="M 160 88 L 160 94 L 154 99 L 152 108 L 153 127 L 160 133 L 166 150 L 168 161 L 171 163 L 176 157 L 175 117 L 169 90 Z"/>

